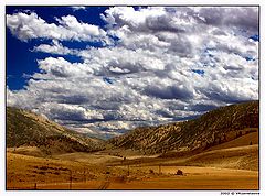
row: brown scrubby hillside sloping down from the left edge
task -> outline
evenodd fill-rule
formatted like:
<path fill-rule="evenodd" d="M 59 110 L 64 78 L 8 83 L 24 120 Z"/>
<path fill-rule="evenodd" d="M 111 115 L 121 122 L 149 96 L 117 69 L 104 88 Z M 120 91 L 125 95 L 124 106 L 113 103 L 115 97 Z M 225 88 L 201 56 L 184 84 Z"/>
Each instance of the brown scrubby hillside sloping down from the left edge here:
<path fill-rule="evenodd" d="M 36 113 L 7 107 L 7 148 L 13 146 L 32 146 L 40 154 L 52 155 L 99 151 L 105 142 L 71 131 Z"/>

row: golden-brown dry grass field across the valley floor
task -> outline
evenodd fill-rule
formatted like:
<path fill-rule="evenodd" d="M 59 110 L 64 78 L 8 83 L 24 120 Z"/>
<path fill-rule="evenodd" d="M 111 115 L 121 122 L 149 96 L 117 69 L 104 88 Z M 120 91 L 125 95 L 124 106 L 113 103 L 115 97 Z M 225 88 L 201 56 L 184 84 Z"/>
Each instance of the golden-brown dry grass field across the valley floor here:
<path fill-rule="evenodd" d="M 258 189 L 257 141 L 254 132 L 170 157 L 121 150 L 36 157 L 35 149 L 9 149 L 7 189 Z"/>

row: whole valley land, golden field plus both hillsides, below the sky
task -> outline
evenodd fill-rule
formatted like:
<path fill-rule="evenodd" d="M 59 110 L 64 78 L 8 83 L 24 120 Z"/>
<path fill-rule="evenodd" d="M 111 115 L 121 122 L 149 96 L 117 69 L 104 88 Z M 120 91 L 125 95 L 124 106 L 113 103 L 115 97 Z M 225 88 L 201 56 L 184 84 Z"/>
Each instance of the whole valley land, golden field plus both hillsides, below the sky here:
<path fill-rule="evenodd" d="M 210 116 L 205 113 L 198 121 L 181 122 L 184 123 L 184 129 L 180 123 L 177 123 L 177 127 L 166 124 L 158 128 L 139 128 L 108 141 L 82 139 L 82 135 L 53 122 L 35 120 L 35 116 L 30 119 L 33 123 L 28 123 L 29 119 L 24 120 L 24 111 L 14 110 L 20 120 L 8 116 L 10 137 L 7 146 L 7 189 L 257 190 L 257 102 L 232 106 L 236 108 L 236 112 L 230 107 L 229 111 L 234 120 L 232 127 L 227 126 L 227 119 L 231 118 L 225 121 L 221 118 L 218 123 L 216 120 L 209 121 Z M 226 112 L 227 108 L 222 110 Z M 216 113 L 220 113 L 220 110 L 215 113 L 212 111 L 211 116 L 219 119 Z M 246 117 L 247 113 L 255 116 Z M 202 120 L 205 117 L 208 122 Z M 244 120 L 246 118 L 253 118 L 252 122 Z M 18 122 L 17 127 L 24 127 L 28 131 L 25 135 L 19 134 L 20 145 L 13 145 L 11 142 L 10 131 L 19 131 L 12 127 L 13 122 Z M 38 134 L 32 132 L 34 129 L 30 129 L 32 124 L 34 129 L 40 130 Z M 200 131 L 198 128 L 202 124 L 205 128 Z M 186 133 L 187 128 L 189 134 Z M 42 129 L 46 131 L 41 132 Z M 147 129 L 148 131 L 145 131 Z M 186 132 L 182 132 L 183 130 Z M 28 134 L 35 137 L 34 142 L 31 141 L 32 138 L 26 138 Z M 141 145 L 144 148 L 139 148 Z M 89 146 L 88 150 L 86 146 Z"/>

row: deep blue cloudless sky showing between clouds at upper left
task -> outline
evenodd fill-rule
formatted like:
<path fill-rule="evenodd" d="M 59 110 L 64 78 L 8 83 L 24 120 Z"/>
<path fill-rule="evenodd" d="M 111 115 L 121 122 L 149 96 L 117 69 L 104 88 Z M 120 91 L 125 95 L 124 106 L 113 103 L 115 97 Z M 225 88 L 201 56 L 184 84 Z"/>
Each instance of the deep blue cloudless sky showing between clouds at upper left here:
<path fill-rule="evenodd" d="M 93 23 L 104 28 L 105 22 L 99 18 L 99 14 L 104 12 L 107 7 L 89 7 L 81 10 L 74 10 L 71 7 L 7 7 L 7 14 L 12 14 L 19 11 L 24 12 L 35 12 L 46 22 L 55 22 L 54 18 L 60 18 L 63 15 L 74 15 L 80 21 Z M 89 15 L 89 17 L 88 17 Z M 36 58 L 45 58 L 51 56 L 51 54 L 45 53 L 32 53 L 30 52 L 35 45 L 40 43 L 49 43 L 49 40 L 29 40 L 26 42 L 21 42 L 14 37 L 7 28 L 7 83 L 10 89 L 19 90 L 26 85 L 28 78 L 25 75 L 32 75 L 38 72 Z M 87 45 L 98 46 L 97 43 L 92 42 L 72 42 L 65 41 L 64 45 L 74 48 L 85 48 Z M 19 51 L 13 53 L 13 51 Z M 59 56 L 56 54 L 52 56 Z M 80 57 L 67 55 L 64 56 L 70 62 L 78 62 Z M 23 65 L 23 66 L 21 66 Z"/>

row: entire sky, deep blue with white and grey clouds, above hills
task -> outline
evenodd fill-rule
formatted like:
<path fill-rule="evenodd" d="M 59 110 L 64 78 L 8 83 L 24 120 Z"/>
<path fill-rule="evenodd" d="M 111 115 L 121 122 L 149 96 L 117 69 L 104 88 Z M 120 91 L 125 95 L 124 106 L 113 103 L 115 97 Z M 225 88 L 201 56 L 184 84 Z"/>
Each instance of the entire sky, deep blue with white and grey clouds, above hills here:
<path fill-rule="evenodd" d="M 6 7 L 7 104 L 100 138 L 258 99 L 257 7 Z"/>

